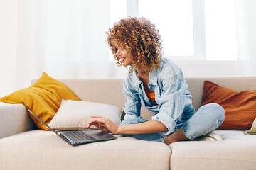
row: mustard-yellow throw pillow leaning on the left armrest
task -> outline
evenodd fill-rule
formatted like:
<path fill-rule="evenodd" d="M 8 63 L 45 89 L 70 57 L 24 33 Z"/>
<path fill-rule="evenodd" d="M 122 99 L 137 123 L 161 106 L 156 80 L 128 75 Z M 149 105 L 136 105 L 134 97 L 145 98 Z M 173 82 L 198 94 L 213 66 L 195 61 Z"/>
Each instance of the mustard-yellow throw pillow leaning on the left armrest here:
<path fill-rule="evenodd" d="M 61 99 L 80 101 L 80 98 L 73 94 L 67 86 L 43 72 L 42 77 L 33 86 L 15 91 L 8 96 L 0 98 L 0 101 L 4 103 L 24 104 L 26 108 L 29 108 L 35 115 L 48 124 L 58 111 Z M 38 128 L 48 130 L 43 123 L 39 122 L 32 115 L 31 118 Z"/>

